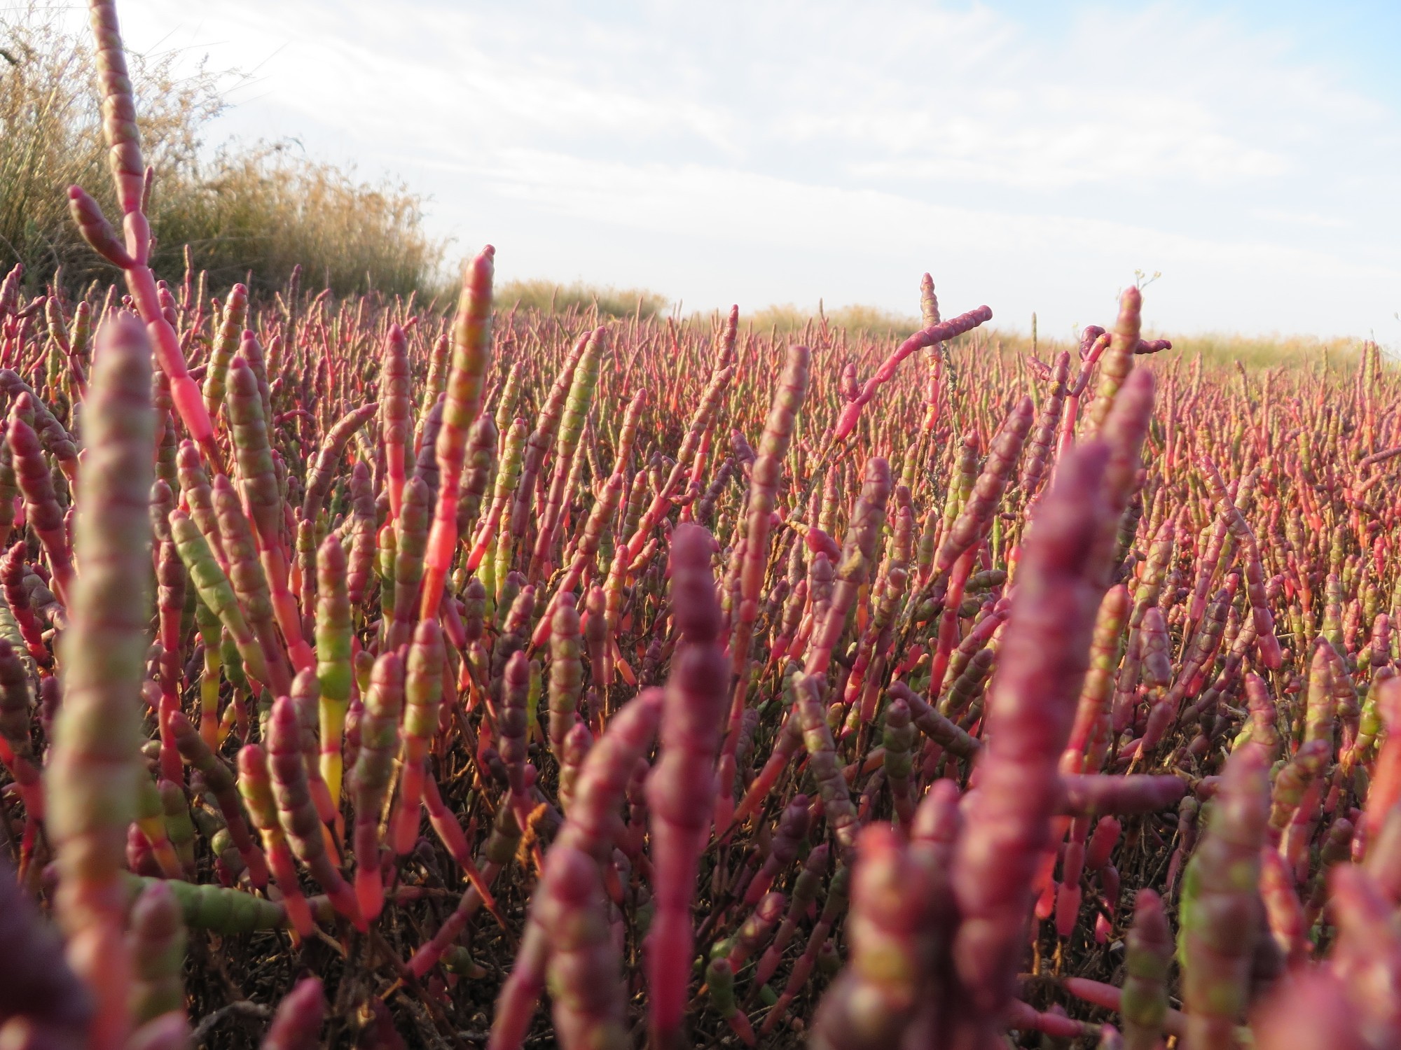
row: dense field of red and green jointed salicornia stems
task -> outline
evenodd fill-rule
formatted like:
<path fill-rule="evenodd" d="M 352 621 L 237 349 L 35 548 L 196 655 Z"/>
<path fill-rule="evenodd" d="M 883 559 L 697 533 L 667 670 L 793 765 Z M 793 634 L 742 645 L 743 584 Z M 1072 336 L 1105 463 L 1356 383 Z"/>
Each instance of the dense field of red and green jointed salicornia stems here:
<path fill-rule="evenodd" d="M 123 283 L 0 284 L 0 1047 L 1401 1044 L 1376 347 L 167 284 L 91 10 Z"/>

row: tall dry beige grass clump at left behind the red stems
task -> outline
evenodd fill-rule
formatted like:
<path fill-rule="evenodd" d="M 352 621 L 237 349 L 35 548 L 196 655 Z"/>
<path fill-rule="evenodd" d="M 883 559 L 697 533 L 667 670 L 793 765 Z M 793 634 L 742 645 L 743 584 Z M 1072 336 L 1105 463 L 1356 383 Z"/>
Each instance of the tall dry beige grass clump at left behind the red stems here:
<path fill-rule="evenodd" d="M 366 183 L 286 143 L 230 143 L 209 151 L 209 122 L 226 108 L 237 73 L 179 55 L 132 53 L 143 151 L 156 169 L 151 228 L 158 273 L 195 266 L 219 284 L 286 283 L 301 263 L 308 280 L 339 294 L 409 293 L 440 280 L 444 245 L 422 227 L 422 197 L 394 183 Z M 0 269 L 24 263 L 28 280 L 62 267 L 71 284 L 111 279 L 78 238 L 64 190 L 80 183 L 108 214 L 111 179 L 99 130 L 92 46 L 55 3 L 0 8 Z"/>

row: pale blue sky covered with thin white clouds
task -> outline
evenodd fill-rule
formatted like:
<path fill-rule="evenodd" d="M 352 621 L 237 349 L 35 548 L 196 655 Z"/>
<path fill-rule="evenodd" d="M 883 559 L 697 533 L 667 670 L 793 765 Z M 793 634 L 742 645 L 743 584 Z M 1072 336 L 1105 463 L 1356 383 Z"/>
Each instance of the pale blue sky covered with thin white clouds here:
<path fill-rule="evenodd" d="M 122 0 L 499 279 L 1401 347 L 1401 4 Z"/>

